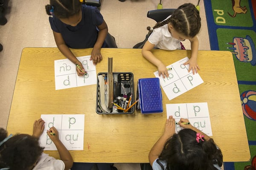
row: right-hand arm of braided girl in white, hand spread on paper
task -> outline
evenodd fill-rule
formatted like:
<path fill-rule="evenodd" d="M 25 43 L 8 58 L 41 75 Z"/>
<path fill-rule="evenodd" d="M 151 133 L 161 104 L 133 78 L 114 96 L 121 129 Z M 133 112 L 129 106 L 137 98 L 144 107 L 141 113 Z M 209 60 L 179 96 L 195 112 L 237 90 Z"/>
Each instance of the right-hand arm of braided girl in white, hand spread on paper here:
<path fill-rule="evenodd" d="M 197 64 L 197 56 L 198 56 L 198 38 L 195 36 L 191 39 L 189 39 L 191 43 L 191 57 L 189 61 L 185 62 L 184 65 L 189 64 L 189 71 L 192 69 L 193 74 L 197 73 L 198 70 L 200 70 L 198 64 Z"/>

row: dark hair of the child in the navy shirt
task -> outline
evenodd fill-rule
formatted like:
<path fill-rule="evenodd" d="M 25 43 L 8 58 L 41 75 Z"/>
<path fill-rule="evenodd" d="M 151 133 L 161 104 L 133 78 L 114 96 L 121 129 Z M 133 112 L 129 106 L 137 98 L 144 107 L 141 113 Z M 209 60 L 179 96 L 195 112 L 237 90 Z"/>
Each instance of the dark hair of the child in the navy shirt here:
<path fill-rule="evenodd" d="M 55 15 L 57 18 L 69 18 L 78 14 L 81 10 L 80 0 L 50 0 L 50 5 L 46 5 L 46 13 Z"/>

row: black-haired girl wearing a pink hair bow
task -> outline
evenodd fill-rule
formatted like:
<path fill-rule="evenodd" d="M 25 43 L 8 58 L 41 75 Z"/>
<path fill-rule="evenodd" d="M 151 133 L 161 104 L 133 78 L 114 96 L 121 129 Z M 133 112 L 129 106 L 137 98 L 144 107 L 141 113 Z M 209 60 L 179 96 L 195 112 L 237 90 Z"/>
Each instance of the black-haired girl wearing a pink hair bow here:
<path fill-rule="evenodd" d="M 223 156 L 213 139 L 180 119 L 184 129 L 175 133 L 175 119 L 166 120 L 163 135 L 148 154 L 153 170 L 221 170 Z"/>

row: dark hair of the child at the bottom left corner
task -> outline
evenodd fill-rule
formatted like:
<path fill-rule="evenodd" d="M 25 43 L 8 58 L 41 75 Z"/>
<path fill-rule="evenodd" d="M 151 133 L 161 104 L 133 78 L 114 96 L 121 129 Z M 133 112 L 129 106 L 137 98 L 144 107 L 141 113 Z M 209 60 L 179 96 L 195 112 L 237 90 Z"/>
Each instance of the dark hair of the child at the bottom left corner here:
<path fill-rule="evenodd" d="M 7 132 L 0 128 L 0 142 L 7 137 Z M 44 151 L 38 139 L 28 134 L 16 134 L 0 146 L 0 168 L 10 170 L 28 170 Z"/>

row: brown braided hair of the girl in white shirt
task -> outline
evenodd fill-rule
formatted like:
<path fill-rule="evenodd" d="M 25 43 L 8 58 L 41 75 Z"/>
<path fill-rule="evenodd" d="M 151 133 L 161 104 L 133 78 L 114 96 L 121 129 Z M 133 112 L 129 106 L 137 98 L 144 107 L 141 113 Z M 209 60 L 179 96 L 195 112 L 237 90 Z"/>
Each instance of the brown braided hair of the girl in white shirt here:
<path fill-rule="evenodd" d="M 186 37 L 195 37 L 201 28 L 199 11 L 192 3 L 185 3 L 182 6 L 179 6 L 171 17 L 157 23 L 153 29 L 159 28 L 168 23 L 171 23 L 178 33 Z M 147 27 L 147 29 L 149 31 L 153 31 L 150 27 Z"/>

